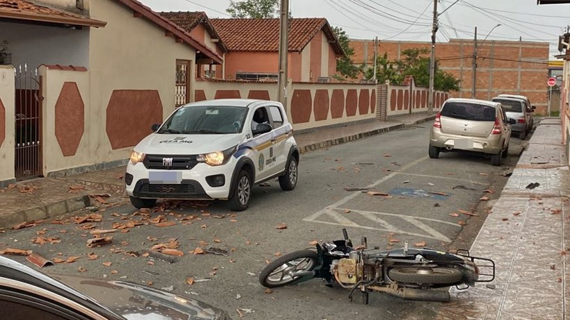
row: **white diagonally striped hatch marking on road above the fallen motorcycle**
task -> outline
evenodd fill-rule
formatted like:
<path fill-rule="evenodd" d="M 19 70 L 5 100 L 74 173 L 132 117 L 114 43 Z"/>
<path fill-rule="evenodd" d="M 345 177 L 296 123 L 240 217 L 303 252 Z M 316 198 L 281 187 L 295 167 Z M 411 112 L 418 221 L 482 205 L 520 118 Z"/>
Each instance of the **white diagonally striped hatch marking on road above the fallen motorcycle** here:
<path fill-rule="evenodd" d="M 373 226 L 371 226 L 371 224 L 366 224 L 365 226 L 362 226 L 362 225 L 359 225 L 356 222 L 348 219 L 348 217 L 350 217 L 350 215 L 341 214 L 336 210 L 343 211 L 343 210 L 345 210 L 345 208 L 325 208 L 325 210 L 320 210 L 317 212 L 318 214 L 312 214 L 310 217 L 303 219 L 303 221 L 317 222 L 319 224 L 332 224 L 335 226 L 349 226 L 349 227 L 353 227 L 353 228 L 363 228 L 363 229 L 367 229 L 367 230 L 382 230 L 382 231 L 398 233 L 398 234 L 402 234 L 402 235 L 413 235 L 416 237 L 436 239 L 436 240 L 443 241 L 443 242 L 451 242 L 451 239 L 446 237 L 446 235 L 439 233 L 439 231 L 428 226 L 427 224 L 424 224 L 420 220 L 434 221 L 434 222 L 437 222 L 438 224 L 448 224 L 450 226 L 455 226 L 457 228 L 461 228 L 461 226 L 459 226 L 457 224 L 453 224 L 453 223 L 448 222 L 448 221 L 442 221 L 442 220 L 437 220 L 437 219 L 413 217 L 413 216 L 409 216 L 409 215 L 405 215 L 405 214 L 393 214 L 393 213 L 387 213 L 387 212 L 350 210 L 351 214 L 359 214 L 359 216 L 364 217 L 364 218 L 366 218 L 370 221 L 373 221 L 377 224 L 377 225 L 373 225 Z M 388 221 L 386 221 L 386 220 L 384 220 L 378 216 L 388 216 L 388 217 L 395 217 L 396 219 L 401 219 L 402 223 L 412 224 L 416 228 L 425 231 L 425 233 L 409 232 L 405 229 L 393 226 Z M 329 217 L 330 219 L 332 219 L 334 221 L 326 221 L 325 219 L 323 219 L 325 217 Z"/>

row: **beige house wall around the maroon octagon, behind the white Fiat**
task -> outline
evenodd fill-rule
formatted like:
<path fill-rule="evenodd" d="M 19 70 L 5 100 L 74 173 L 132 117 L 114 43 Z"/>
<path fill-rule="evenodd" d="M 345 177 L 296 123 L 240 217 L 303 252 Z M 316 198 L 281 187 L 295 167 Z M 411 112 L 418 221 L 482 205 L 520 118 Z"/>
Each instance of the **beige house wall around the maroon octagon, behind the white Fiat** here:
<path fill-rule="evenodd" d="M 122 160 L 128 158 L 131 147 L 112 150 L 106 135 L 106 108 L 113 90 L 157 90 L 166 117 L 174 110 L 176 60 L 195 60 L 195 49 L 165 37 L 163 28 L 133 17 L 132 10 L 117 1 L 92 1 L 90 12 L 108 22 L 105 28 L 92 29 L 90 36 L 89 121 L 97 124 L 89 131 L 95 149 L 92 162 Z M 195 74 L 194 65 L 190 74 Z M 193 100 L 193 87 L 191 92 Z"/>

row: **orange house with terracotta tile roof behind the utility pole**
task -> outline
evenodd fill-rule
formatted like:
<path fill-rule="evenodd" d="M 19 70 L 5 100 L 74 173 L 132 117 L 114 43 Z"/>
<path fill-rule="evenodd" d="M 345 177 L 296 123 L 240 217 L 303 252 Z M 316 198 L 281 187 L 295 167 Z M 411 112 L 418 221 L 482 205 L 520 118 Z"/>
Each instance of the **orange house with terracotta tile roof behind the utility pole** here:
<path fill-rule="evenodd" d="M 277 79 L 279 19 L 210 21 L 228 49 L 220 78 Z M 315 83 L 336 74 L 336 58 L 345 53 L 327 19 L 293 18 L 288 37 L 288 78 Z"/>

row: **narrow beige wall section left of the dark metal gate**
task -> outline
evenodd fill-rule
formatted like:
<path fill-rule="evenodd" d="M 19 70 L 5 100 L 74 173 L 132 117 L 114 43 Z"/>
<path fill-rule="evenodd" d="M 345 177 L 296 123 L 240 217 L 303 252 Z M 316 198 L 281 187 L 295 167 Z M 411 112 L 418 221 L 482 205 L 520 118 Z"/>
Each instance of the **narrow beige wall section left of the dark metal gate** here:
<path fill-rule="evenodd" d="M 0 100 L 4 106 L 4 141 L 0 144 L 0 182 L 14 178 L 15 74 L 12 66 L 0 65 Z"/>

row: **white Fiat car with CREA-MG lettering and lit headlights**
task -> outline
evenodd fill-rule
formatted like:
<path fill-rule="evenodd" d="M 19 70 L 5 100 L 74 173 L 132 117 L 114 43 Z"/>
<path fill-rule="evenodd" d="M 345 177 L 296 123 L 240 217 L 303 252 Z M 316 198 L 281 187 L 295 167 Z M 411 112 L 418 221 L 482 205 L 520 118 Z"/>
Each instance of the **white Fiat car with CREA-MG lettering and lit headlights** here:
<path fill-rule="evenodd" d="M 133 149 L 125 174 L 136 208 L 157 199 L 224 199 L 241 211 L 253 185 L 277 177 L 283 190 L 297 185 L 299 150 L 279 102 L 188 103 L 152 130 Z"/>

